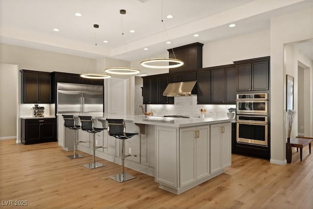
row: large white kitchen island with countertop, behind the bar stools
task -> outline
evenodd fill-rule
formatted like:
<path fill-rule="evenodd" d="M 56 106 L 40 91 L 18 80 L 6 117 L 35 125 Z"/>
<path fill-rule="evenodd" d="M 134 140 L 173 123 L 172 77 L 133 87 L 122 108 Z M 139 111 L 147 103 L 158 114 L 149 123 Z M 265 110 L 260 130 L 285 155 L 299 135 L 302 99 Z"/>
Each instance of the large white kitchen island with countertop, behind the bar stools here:
<path fill-rule="evenodd" d="M 154 176 L 160 188 L 175 194 L 224 173 L 224 168 L 231 165 L 231 119 L 228 118 L 163 118 L 107 113 L 73 115 L 92 116 L 96 119 L 95 127 L 106 127 L 107 118 L 123 118 L 127 132 L 140 132 L 126 140 L 126 152 L 137 157 L 125 158 L 125 166 Z M 68 130 L 64 130 L 63 117 L 58 118 L 59 145 L 73 144 L 66 133 Z M 80 130 L 78 137 L 87 142 L 80 143 L 78 150 L 90 154 L 89 133 Z M 97 133 L 96 143 L 107 147 L 97 149 L 97 157 L 121 163 L 120 140 L 109 136 L 105 130 Z"/>

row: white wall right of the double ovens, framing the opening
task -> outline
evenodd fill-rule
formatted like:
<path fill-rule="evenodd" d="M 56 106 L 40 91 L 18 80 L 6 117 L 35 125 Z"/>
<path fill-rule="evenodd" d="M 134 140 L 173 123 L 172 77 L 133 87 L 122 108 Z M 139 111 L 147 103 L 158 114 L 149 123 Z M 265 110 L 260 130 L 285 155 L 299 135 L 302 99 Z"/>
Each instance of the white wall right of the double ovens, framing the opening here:
<path fill-rule="evenodd" d="M 270 93 L 272 95 L 270 103 L 270 162 L 272 163 L 286 164 L 286 131 L 284 126 L 286 70 L 284 69 L 284 44 L 313 38 L 312 20 L 313 7 L 274 17 L 270 22 Z"/>

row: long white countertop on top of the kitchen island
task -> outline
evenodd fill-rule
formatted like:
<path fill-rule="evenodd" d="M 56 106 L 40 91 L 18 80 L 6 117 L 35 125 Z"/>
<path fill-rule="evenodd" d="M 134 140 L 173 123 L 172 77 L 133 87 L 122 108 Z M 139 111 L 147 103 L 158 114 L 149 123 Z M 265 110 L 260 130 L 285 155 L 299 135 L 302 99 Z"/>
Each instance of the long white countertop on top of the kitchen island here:
<path fill-rule="evenodd" d="M 230 123 L 233 119 L 229 118 L 171 118 L 162 116 L 146 116 L 146 115 L 117 115 L 108 114 L 104 112 L 88 112 L 88 113 L 66 113 L 67 115 L 74 116 L 92 116 L 94 119 L 105 120 L 107 118 L 111 119 L 124 119 L 125 122 L 132 122 L 138 124 L 148 124 L 157 126 L 167 126 L 167 127 L 191 127 L 191 126 L 201 126 L 208 124 L 217 123 Z M 62 114 L 58 114 L 62 116 Z"/>

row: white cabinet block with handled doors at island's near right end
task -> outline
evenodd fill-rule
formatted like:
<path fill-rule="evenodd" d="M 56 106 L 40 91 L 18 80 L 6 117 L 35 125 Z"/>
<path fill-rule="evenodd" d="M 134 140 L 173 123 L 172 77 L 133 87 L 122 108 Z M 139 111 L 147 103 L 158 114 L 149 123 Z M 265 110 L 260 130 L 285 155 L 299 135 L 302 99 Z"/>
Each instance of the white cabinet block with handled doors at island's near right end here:
<path fill-rule="evenodd" d="M 156 182 L 180 194 L 231 165 L 231 123 L 156 127 Z"/>

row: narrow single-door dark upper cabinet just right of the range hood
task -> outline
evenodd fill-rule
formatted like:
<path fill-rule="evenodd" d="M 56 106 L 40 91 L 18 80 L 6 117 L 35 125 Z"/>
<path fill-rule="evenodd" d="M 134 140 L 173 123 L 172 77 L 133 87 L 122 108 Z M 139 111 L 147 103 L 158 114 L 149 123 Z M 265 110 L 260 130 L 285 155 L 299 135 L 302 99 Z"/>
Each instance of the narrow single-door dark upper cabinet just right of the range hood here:
<path fill-rule="evenodd" d="M 211 102 L 211 71 L 197 72 L 197 104 L 209 104 Z"/>

